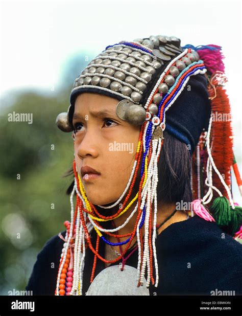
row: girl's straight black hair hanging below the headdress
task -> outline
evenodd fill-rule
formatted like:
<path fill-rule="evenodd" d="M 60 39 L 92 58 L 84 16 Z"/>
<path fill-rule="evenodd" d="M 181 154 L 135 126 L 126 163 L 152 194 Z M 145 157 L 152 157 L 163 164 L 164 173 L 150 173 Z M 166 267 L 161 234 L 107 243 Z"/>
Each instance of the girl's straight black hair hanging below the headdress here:
<path fill-rule="evenodd" d="M 190 185 L 191 155 L 185 143 L 182 143 L 164 130 L 164 142 L 158 162 L 157 201 L 190 202 L 192 199 Z M 72 167 L 63 176 L 73 176 Z M 138 188 L 140 176 L 135 188 Z M 69 195 L 74 187 L 74 180 L 66 190 Z"/>

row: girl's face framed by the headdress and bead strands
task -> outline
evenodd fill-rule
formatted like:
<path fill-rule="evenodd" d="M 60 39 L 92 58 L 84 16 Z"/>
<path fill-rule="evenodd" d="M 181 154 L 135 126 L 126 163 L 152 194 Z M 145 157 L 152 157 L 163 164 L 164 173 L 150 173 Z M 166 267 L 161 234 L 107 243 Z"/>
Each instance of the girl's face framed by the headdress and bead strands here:
<path fill-rule="evenodd" d="M 110 204 L 122 195 L 134 164 L 140 127 L 118 118 L 118 102 L 97 93 L 82 93 L 75 102 L 72 122 L 76 166 L 94 205 Z M 100 175 L 82 174 L 85 166 Z"/>

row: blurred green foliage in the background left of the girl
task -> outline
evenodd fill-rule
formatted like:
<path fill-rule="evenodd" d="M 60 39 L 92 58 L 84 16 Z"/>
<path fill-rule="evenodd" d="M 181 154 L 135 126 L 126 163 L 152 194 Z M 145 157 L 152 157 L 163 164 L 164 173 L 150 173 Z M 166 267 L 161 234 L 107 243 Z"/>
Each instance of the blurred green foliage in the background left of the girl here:
<path fill-rule="evenodd" d="M 88 63 L 86 56 L 68 62 L 62 86 L 49 94 L 12 93 L 9 104 L 2 100 L 0 295 L 25 289 L 44 243 L 63 231 L 63 222 L 69 220 L 66 189 L 72 178 L 63 175 L 72 167 L 73 141 L 55 120 L 67 111 L 74 79 Z M 32 124 L 9 122 L 14 111 L 32 114 Z"/>

